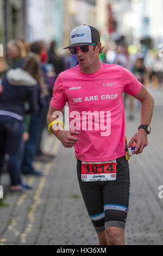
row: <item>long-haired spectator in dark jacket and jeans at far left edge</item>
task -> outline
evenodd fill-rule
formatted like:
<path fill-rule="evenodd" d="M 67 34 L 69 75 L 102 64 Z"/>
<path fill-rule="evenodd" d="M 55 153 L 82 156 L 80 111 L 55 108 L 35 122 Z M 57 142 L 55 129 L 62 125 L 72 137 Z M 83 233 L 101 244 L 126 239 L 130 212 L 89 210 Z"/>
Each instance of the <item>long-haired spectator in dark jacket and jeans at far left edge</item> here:
<path fill-rule="evenodd" d="M 40 65 L 35 54 L 29 54 L 22 68 L 10 69 L 2 80 L 3 93 L 0 98 L 0 173 L 8 154 L 10 191 L 22 191 L 20 175 L 21 143 L 25 114 L 39 110 L 39 97 L 45 94 L 40 86 Z M 42 84 L 42 83 L 41 83 Z M 28 102 L 29 108 L 24 108 Z"/>

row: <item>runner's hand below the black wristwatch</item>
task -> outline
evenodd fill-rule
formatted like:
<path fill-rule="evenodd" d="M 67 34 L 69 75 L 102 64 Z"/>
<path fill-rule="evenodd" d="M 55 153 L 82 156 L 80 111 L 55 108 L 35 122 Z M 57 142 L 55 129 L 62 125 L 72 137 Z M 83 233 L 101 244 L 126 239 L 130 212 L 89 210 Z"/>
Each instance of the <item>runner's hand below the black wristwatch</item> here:
<path fill-rule="evenodd" d="M 135 135 L 129 141 L 128 148 L 131 147 L 131 144 L 134 141 L 136 142 L 136 147 L 132 154 L 138 155 L 138 154 L 142 153 L 143 149 L 148 145 L 148 138 L 147 138 L 146 131 L 144 129 L 139 129 L 139 131 L 137 131 L 135 133 Z"/>

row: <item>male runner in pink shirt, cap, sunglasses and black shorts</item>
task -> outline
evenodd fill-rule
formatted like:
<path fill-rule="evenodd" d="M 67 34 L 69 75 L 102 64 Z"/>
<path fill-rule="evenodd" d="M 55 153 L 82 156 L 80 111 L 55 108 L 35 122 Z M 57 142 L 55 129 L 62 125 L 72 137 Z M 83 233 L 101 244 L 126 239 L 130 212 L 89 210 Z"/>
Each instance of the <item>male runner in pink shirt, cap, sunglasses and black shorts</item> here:
<path fill-rule="evenodd" d="M 75 149 L 80 189 L 100 245 L 124 245 L 130 179 L 122 92 L 133 95 L 142 106 L 141 126 L 128 144 L 136 142 L 133 154 L 142 153 L 147 146 L 153 97 L 127 69 L 100 62 L 102 46 L 96 28 L 74 28 L 66 48 L 76 55 L 79 65 L 62 72 L 55 82 L 47 118 L 49 131 L 65 148 Z M 70 131 L 56 129 L 55 113 L 64 111 L 66 102 Z M 92 126 L 85 125 L 91 120 Z"/>

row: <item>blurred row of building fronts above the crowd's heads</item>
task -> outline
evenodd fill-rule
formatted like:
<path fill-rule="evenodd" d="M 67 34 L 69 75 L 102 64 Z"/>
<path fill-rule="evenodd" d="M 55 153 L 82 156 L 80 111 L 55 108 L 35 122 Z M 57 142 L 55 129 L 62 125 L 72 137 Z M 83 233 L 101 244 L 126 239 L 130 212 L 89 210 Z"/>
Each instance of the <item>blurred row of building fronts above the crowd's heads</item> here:
<path fill-rule="evenodd" d="M 102 41 L 123 35 L 129 44 L 151 38 L 158 47 L 162 10 L 162 0 L 0 0 L 0 44 L 24 37 L 55 40 L 62 48 L 72 28 L 88 24 L 99 29 Z"/>

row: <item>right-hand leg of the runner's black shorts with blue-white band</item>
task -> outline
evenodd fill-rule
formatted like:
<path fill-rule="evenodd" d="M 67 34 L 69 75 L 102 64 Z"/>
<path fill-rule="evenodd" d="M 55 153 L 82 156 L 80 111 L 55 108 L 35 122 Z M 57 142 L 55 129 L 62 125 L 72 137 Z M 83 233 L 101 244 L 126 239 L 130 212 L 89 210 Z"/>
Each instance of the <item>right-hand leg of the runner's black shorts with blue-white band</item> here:
<path fill-rule="evenodd" d="M 126 157 L 117 159 L 117 177 L 103 187 L 105 228 L 123 228 L 129 205 L 130 175 Z"/>

